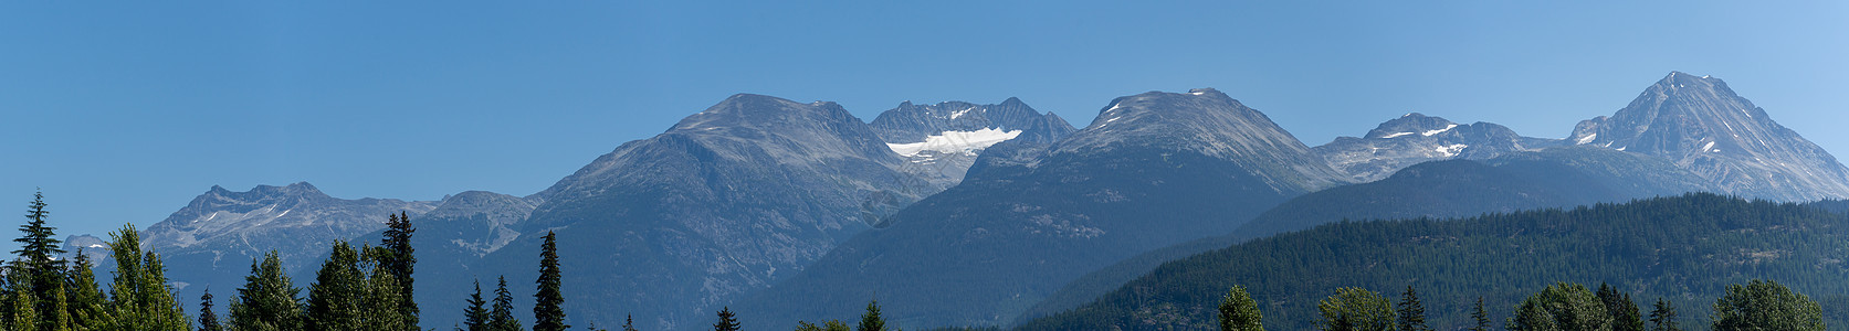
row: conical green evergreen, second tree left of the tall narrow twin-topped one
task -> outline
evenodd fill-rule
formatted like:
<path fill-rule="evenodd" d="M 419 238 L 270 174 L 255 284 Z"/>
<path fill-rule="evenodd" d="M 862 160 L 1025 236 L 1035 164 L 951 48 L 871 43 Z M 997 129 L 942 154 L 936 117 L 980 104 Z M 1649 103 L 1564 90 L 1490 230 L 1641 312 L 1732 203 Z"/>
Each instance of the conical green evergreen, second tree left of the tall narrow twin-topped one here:
<path fill-rule="evenodd" d="M 301 331 L 301 288 L 283 274 L 283 261 L 276 251 L 264 253 L 263 263 L 250 261 L 250 276 L 244 287 L 237 288 L 231 301 L 231 329 L 237 331 Z"/>

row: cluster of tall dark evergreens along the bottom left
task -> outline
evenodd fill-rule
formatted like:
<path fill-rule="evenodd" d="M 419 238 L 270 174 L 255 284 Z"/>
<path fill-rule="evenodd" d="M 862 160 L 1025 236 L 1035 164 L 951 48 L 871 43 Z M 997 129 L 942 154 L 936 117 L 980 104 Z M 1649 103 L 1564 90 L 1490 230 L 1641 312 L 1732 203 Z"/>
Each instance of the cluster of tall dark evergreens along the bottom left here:
<path fill-rule="evenodd" d="M 26 224 L 13 242 L 17 259 L 0 266 L 0 329 L 6 331 L 416 331 L 418 303 L 412 300 L 416 255 L 410 237 L 416 227 L 407 213 L 390 215 L 379 246 L 335 240 L 327 261 L 309 283 L 307 296 L 283 270 L 277 251 L 253 259 L 250 276 L 231 300 L 229 316 L 218 318 L 213 294 L 200 298 L 198 318 L 190 318 L 174 296 L 159 253 L 141 250 L 133 224 L 109 233 L 109 257 L 116 270 L 107 292 L 98 285 L 80 248 L 63 259 L 63 240 L 48 224 L 44 194 L 35 192 L 26 209 Z M 512 313 L 514 298 L 507 277 L 497 279 L 490 307 L 481 283 L 468 298 L 466 320 L 457 329 L 520 331 Z M 540 248 L 540 279 L 534 281 L 533 329 L 564 331 L 562 277 L 557 235 L 547 231 Z M 625 324 L 625 329 L 634 329 Z"/>

